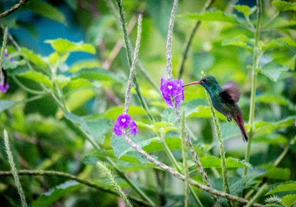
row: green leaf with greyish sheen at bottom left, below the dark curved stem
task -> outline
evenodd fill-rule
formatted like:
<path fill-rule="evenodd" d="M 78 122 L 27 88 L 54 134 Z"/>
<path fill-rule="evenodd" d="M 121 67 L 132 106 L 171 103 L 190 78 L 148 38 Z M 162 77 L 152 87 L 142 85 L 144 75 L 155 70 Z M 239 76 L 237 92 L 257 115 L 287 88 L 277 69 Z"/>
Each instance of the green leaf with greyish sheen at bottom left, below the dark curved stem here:
<path fill-rule="evenodd" d="M 79 188 L 82 185 L 77 181 L 70 180 L 66 181 L 63 184 L 56 186 L 55 188 L 49 190 L 48 192 L 44 193 L 42 196 L 39 196 L 33 203 L 32 207 L 49 207 L 54 202 L 61 199 L 68 193 L 71 193 Z"/>

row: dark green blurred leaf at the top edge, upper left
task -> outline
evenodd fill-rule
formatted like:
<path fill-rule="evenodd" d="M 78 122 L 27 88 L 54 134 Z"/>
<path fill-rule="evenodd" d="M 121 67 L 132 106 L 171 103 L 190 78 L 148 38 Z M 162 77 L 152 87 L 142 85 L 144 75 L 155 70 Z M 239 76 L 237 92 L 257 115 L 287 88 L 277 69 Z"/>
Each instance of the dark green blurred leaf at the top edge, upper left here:
<path fill-rule="evenodd" d="M 31 9 L 33 12 L 44 16 L 48 19 L 55 20 L 57 22 L 66 23 L 66 18 L 62 12 L 57 8 L 50 5 L 45 1 L 31 0 L 27 5 L 27 8 Z"/>

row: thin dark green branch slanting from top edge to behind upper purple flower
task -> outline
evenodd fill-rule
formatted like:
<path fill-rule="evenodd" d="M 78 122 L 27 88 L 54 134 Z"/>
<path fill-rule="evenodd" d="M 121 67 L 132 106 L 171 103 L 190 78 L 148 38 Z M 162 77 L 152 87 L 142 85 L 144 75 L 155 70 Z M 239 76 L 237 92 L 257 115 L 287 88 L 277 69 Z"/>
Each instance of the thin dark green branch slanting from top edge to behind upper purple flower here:
<path fill-rule="evenodd" d="M 215 0 L 208 0 L 205 5 L 203 6 L 203 9 L 202 11 L 205 11 L 207 10 L 208 8 L 210 8 L 213 3 L 214 3 Z M 184 67 L 185 67 L 185 61 L 187 60 L 187 56 L 188 56 L 188 52 L 189 52 L 189 48 L 191 46 L 191 43 L 192 43 L 192 40 L 193 40 L 193 37 L 197 31 L 197 29 L 199 28 L 200 26 L 200 21 L 196 21 L 194 27 L 192 28 L 189 36 L 187 37 L 186 41 L 185 41 L 185 44 L 184 44 L 184 52 L 183 52 L 183 56 L 182 56 L 182 61 L 181 61 L 181 65 L 180 65 L 180 69 L 179 69 L 179 75 L 178 75 L 178 78 L 182 78 L 182 75 L 183 75 L 183 72 L 184 72 Z"/>

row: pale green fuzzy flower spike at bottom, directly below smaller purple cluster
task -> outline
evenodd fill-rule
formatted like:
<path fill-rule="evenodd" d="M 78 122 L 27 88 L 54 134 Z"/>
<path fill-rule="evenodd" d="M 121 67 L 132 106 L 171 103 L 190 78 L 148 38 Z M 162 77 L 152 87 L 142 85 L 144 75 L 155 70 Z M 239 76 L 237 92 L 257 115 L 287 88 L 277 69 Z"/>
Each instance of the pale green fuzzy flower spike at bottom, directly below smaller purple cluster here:
<path fill-rule="evenodd" d="M 97 162 L 98 168 L 107 175 L 108 179 L 110 180 L 111 185 L 113 186 L 114 190 L 118 193 L 120 198 L 123 200 L 125 205 L 127 207 L 132 207 L 133 205 L 131 204 L 130 200 L 128 199 L 127 195 L 123 192 L 121 187 L 118 185 L 117 181 L 115 180 L 115 177 L 111 170 L 103 163 L 98 161 Z"/>

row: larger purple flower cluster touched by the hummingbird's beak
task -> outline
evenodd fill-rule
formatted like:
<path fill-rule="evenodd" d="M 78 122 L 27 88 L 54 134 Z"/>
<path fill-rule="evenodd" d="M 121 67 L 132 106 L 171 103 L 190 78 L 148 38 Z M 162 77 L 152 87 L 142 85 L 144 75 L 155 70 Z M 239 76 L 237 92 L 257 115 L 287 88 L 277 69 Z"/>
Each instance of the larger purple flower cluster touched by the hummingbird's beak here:
<path fill-rule="evenodd" d="M 184 101 L 184 85 L 182 79 L 166 80 L 163 77 L 160 82 L 160 92 L 166 104 L 173 107 L 171 98 L 175 98 L 177 107 L 180 106 L 181 100 Z"/>

